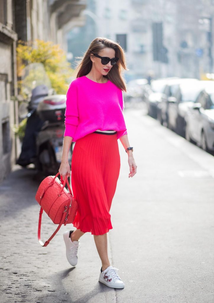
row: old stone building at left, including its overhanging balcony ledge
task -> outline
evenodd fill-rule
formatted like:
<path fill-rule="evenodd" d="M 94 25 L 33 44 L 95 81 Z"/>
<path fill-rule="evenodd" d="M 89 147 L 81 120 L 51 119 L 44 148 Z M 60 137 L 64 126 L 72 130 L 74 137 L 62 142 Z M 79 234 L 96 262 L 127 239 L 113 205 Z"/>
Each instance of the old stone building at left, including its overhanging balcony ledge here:
<path fill-rule="evenodd" d="M 52 4 L 57 4 L 56 11 L 51 12 Z M 81 5 L 78 0 L 0 0 L 0 183 L 11 171 L 21 151 L 13 132 L 13 127 L 19 123 L 18 102 L 11 100 L 12 95 L 18 95 L 17 41 L 42 39 L 58 43 L 60 37 L 59 44 L 63 47 L 66 45 L 64 36 L 61 38 L 59 33 L 64 33 L 65 24 L 58 28 L 58 13 L 65 12 L 71 22 L 84 8 L 84 0 Z"/>

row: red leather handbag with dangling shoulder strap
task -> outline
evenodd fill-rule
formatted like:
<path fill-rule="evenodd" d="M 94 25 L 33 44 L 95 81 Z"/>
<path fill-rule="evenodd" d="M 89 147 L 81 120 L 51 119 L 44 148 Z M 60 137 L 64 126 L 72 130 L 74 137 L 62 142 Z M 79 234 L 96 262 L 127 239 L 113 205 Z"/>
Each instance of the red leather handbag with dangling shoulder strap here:
<path fill-rule="evenodd" d="M 72 223 L 74 221 L 78 203 L 77 200 L 74 199 L 72 194 L 69 182 L 67 180 L 67 176 L 65 180 L 61 181 L 57 176 L 59 172 L 54 176 L 48 176 L 42 180 L 37 193 L 35 195 L 36 201 L 41 205 L 39 212 L 39 224 L 38 224 L 38 241 L 41 246 L 47 246 L 51 239 L 56 235 L 61 225 L 64 223 Z M 65 188 L 65 185 L 69 191 Z M 40 230 L 41 230 L 41 217 L 43 210 L 46 212 L 49 218 L 54 222 L 54 224 L 59 224 L 57 229 L 54 231 L 53 235 L 43 243 L 40 238 Z"/>

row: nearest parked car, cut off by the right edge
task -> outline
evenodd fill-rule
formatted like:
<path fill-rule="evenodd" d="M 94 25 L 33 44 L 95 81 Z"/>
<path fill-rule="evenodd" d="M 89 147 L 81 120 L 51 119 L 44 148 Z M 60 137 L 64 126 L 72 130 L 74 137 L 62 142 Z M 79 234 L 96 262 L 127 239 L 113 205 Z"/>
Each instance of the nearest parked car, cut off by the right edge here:
<path fill-rule="evenodd" d="M 186 139 L 214 151 L 214 82 L 207 84 L 185 116 Z"/>

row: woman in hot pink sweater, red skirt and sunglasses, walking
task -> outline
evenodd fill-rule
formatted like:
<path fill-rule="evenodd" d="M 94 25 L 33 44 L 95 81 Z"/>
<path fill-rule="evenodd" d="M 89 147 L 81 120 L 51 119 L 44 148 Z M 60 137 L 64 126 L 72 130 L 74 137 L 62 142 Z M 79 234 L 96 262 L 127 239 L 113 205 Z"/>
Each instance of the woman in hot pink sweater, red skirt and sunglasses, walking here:
<path fill-rule="evenodd" d="M 124 288 L 107 254 L 107 232 L 112 229 L 111 202 L 120 171 L 118 138 L 127 152 L 129 178 L 136 174 L 123 117 L 126 86 L 121 70 L 126 69 L 123 49 L 107 38 L 95 38 L 77 66 L 76 78 L 67 91 L 65 132 L 59 173 L 70 176 L 78 211 L 76 230 L 63 235 L 67 260 L 77 264 L 79 238 L 85 232 L 94 235 L 102 267 L 99 281 L 112 288 Z M 68 151 L 75 142 L 71 170 Z"/>

